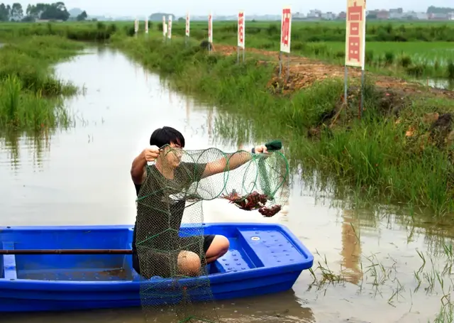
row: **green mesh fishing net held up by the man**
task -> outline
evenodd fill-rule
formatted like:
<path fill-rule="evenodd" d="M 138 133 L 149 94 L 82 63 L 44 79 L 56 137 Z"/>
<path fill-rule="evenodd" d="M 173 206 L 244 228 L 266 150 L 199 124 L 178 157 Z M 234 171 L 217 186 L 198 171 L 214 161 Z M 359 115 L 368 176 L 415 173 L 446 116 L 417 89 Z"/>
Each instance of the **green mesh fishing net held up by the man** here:
<path fill-rule="evenodd" d="M 268 143 L 271 153 L 262 154 L 165 146 L 155 163 L 145 166 L 135 248 L 147 322 L 157 322 L 155 312 L 163 310 L 172 322 L 221 322 L 209 280 L 216 254 L 207 248 L 213 236 L 204 232 L 201 202 L 223 198 L 265 217 L 279 212 L 289 196 L 288 163 L 276 151 L 281 147 Z"/>

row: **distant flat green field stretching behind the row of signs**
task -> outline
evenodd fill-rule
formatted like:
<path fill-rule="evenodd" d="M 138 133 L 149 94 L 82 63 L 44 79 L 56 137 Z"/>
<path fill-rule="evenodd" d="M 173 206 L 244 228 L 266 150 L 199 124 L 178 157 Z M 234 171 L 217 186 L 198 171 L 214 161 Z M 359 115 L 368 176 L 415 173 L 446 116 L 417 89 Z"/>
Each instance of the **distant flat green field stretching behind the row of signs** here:
<path fill-rule="evenodd" d="M 140 21 L 140 33 L 144 31 Z M 162 31 L 161 22 L 149 22 L 150 33 Z M 191 37 L 207 37 L 206 22 L 191 23 Z M 214 43 L 236 45 L 236 21 L 214 21 Z M 184 21 L 174 21 L 172 34 L 183 37 Z M 247 21 L 246 47 L 279 50 L 278 21 Z M 134 35 L 133 21 L 69 23 L 0 23 L 0 40 L 31 35 L 60 35 L 71 40 L 109 41 L 115 35 Z M 449 70 L 454 60 L 454 23 L 367 22 L 367 70 L 410 78 L 434 77 L 454 80 Z M 343 65 L 345 21 L 292 23 L 292 53 Z"/>

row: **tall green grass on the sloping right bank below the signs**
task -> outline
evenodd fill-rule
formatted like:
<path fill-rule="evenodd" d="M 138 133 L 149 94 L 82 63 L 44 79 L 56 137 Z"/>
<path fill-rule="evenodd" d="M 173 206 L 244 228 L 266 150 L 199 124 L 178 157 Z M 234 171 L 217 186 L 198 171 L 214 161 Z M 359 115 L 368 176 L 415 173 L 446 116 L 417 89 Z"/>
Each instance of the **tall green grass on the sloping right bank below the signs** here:
<path fill-rule="evenodd" d="M 339 194 L 404 202 L 441 217 L 454 211 L 453 146 L 442 135 L 437 137 L 437 131 L 428 141 L 431 124 L 423 122 L 428 112 L 454 111 L 454 101 L 423 94 L 402 104 L 398 99 L 387 104 L 386 96 L 370 80 L 365 114 L 358 120 L 359 95 L 353 94 L 350 106 L 339 109 L 343 80 L 316 82 L 289 98 L 267 86 L 273 67 L 257 65 L 252 59 L 237 65 L 236 58 L 207 55 L 196 44 L 184 47 L 177 39 L 163 44 L 162 40 L 123 38 L 116 45 L 146 67 L 170 76 L 176 89 L 233 115 L 236 126 L 224 122 L 218 126 L 220 134 L 285 138 L 292 165 L 304 165 L 304 173 L 318 174 L 320 183 L 328 178 Z M 396 98 L 399 95 L 404 94 Z M 328 128 L 331 119 L 326 116 L 334 111 L 340 111 L 339 119 Z M 407 138 L 410 126 L 416 130 Z M 310 138 L 314 128 L 318 134 Z"/>

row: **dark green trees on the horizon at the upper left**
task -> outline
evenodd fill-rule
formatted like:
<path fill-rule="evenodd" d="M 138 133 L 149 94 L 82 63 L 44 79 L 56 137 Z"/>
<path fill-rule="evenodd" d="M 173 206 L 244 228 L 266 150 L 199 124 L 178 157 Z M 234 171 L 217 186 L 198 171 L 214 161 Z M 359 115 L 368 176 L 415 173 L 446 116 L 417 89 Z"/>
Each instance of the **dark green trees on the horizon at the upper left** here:
<path fill-rule="evenodd" d="M 0 4 L 0 21 L 36 21 L 36 20 L 60 20 L 67 21 L 71 14 L 67 11 L 64 2 L 55 2 L 53 4 L 28 4 L 27 8 L 15 2 L 12 5 Z M 77 21 L 87 19 L 87 12 L 82 11 L 77 17 Z"/>

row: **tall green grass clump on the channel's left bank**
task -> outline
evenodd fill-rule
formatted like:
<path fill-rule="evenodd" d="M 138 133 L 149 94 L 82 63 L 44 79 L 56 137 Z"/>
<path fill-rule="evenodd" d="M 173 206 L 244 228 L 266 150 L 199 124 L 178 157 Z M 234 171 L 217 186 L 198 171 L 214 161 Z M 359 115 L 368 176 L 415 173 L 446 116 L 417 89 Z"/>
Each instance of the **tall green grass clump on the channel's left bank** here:
<path fill-rule="evenodd" d="M 77 89 L 52 76 L 50 65 L 83 48 L 60 37 L 31 37 L 0 48 L 0 128 L 40 131 L 70 121 L 62 95 Z"/>

